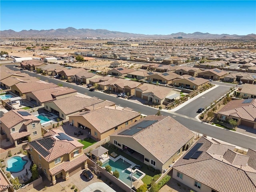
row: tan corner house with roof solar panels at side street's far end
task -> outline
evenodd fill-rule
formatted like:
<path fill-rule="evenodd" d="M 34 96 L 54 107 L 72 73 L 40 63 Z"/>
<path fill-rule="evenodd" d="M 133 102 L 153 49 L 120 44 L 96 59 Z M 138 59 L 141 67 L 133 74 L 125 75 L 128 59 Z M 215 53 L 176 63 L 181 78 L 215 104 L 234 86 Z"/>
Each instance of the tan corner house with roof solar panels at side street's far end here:
<path fill-rule="evenodd" d="M 209 80 L 192 76 L 180 76 L 172 80 L 172 85 L 192 90 L 200 89 L 209 84 Z"/>

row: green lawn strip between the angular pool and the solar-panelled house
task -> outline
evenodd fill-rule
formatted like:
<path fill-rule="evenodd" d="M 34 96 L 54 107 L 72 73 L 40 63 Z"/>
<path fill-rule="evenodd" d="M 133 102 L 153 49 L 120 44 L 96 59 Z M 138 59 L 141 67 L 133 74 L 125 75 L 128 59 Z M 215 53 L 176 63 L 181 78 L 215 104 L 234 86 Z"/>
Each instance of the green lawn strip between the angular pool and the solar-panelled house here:
<path fill-rule="evenodd" d="M 144 164 L 143 162 L 139 161 L 136 158 L 133 158 L 129 154 L 127 154 L 125 152 L 122 152 L 122 151 L 119 151 L 119 150 L 114 150 L 114 149 L 108 147 L 108 144 L 104 144 L 103 147 L 108 149 L 108 154 L 111 154 L 112 152 L 115 152 L 116 154 L 122 155 L 123 157 L 125 157 L 126 159 L 136 163 L 137 165 L 142 165 L 142 168 L 140 170 L 146 174 L 146 176 L 144 176 L 144 178 L 142 178 L 142 181 L 144 183 L 150 184 L 152 178 L 159 178 L 160 177 L 160 174 L 156 174 L 156 173 L 148 170 L 148 166 L 146 164 Z"/>

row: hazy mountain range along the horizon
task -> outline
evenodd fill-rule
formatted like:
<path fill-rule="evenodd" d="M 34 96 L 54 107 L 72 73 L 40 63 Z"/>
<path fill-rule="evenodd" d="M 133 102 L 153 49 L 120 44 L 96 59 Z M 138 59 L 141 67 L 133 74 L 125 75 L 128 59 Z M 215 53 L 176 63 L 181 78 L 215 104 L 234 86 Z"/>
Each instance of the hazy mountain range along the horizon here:
<path fill-rule="evenodd" d="M 256 39 L 256 34 L 248 35 L 230 35 L 230 34 L 210 34 L 210 33 L 172 33 L 169 35 L 144 35 L 144 34 L 134 34 L 118 31 L 109 31 L 106 29 L 76 29 L 73 27 L 68 27 L 66 29 L 50 29 L 50 30 L 22 30 L 16 32 L 14 30 L 3 30 L 0 31 L 2 36 L 76 36 L 76 37 L 102 37 L 102 38 L 174 38 L 182 36 L 182 38 L 200 38 L 200 39 Z"/>

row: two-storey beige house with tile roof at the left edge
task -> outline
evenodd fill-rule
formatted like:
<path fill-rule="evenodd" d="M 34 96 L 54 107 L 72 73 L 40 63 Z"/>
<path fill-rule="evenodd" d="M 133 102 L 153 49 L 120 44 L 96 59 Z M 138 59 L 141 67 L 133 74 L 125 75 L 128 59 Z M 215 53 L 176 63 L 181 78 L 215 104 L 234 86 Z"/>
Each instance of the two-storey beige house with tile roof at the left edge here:
<path fill-rule="evenodd" d="M 40 119 L 26 110 L 10 110 L 3 114 L 1 121 L 1 139 L 9 139 L 14 146 L 42 137 Z"/>

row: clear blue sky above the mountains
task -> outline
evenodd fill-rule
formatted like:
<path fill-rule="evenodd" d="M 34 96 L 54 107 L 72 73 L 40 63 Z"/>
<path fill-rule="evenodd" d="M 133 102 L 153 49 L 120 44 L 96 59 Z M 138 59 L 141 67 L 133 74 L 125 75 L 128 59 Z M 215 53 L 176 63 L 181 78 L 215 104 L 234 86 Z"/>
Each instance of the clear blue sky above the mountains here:
<path fill-rule="evenodd" d="M 256 33 L 256 1 L 0 1 L 0 30 Z"/>

